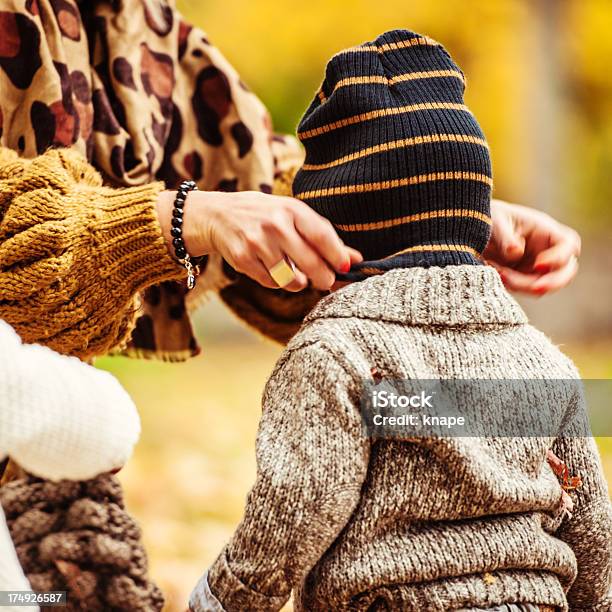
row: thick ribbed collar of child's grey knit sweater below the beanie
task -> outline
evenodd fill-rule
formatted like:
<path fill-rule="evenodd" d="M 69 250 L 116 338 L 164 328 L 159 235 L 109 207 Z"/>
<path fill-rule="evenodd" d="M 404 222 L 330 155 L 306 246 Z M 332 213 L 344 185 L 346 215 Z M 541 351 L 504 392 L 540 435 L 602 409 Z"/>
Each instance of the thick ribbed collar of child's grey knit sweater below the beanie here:
<path fill-rule="evenodd" d="M 326 296 L 306 317 L 375 319 L 466 327 L 527 323 L 522 308 L 490 266 L 391 270 Z"/>

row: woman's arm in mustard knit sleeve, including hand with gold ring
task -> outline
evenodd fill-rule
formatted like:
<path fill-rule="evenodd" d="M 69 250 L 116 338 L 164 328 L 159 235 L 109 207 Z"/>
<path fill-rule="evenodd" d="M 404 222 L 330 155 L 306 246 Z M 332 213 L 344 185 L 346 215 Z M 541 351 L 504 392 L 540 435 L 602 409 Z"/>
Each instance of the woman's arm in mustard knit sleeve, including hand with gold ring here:
<path fill-rule="evenodd" d="M 0 318 L 26 342 L 90 358 L 129 336 L 137 294 L 185 271 L 171 255 L 174 192 L 161 183 L 114 189 L 71 150 L 31 161 L 0 149 Z M 191 255 L 220 253 L 268 287 L 284 254 L 327 289 L 359 256 L 302 202 L 255 192 L 189 195 Z"/>

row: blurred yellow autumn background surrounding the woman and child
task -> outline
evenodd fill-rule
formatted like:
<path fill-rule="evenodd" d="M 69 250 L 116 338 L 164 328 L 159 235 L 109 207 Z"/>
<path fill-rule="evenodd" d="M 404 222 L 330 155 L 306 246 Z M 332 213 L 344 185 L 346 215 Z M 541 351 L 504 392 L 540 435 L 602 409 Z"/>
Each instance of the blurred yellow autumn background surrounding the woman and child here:
<path fill-rule="evenodd" d="M 577 281 L 522 300 L 584 377 L 612 379 L 612 3 L 609 0 L 179 0 L 293 132 L 336 51 L 387 29 L 441 41 L 468 77 L 490 141 L 495 195 L 583 235 Z M 170 365 L 103 359 L 137 402 L 143 435 L 121 478 L 152 574 L 184 610 L 240 519 L 254 478 L 259 397 L 280 349 L 217 302 L 197 314 L 203 354 Z M 600 438 L 612 481 L 612 438 Z"/>

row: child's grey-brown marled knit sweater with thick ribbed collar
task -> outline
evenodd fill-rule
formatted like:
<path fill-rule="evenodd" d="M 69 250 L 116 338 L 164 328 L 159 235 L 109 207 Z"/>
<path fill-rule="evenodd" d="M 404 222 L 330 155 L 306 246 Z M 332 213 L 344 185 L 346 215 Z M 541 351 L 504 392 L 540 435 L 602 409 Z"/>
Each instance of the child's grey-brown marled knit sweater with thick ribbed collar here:
<path fill-rule="evenodd" d="M 611 507 L 594 441 L 374 441 L 359 412 L 372 368 L 402 379 L 578 376 L 489 267 L 394 270 L 330 295 L 267 384 L 257 482 L 200 586 L 229 612 L 279 610 L 292 590 L 297 610 L 325 612 L 612 610 Z M 559 426 L 583 410 L 575 397 L 559 404 Z M 563 520 L 550 447 L 582 479 Z M 191 605 L 221 609 L 197 589 Z"/>

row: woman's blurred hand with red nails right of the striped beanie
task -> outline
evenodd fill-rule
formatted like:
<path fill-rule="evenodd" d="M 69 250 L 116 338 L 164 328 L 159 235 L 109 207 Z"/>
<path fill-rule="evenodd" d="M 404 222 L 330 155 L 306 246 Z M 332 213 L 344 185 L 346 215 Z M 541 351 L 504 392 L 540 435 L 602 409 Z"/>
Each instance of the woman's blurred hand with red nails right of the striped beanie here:
<path fill-rule="evenodd" d="M 543 295 L 562 289 L 578 272 L 580 236 L 533 208 L 491 202 L 493 232 L 484 258 L 506 287 Z"/>

